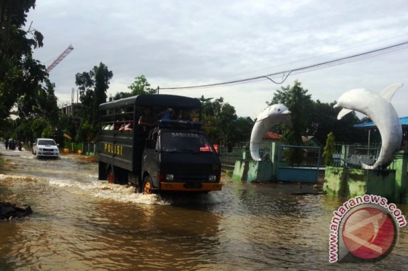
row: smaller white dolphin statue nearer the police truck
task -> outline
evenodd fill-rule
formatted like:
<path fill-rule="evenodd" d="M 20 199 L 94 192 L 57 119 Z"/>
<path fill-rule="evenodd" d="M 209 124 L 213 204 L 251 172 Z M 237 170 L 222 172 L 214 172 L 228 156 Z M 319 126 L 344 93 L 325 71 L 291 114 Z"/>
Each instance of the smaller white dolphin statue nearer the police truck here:
<path fill-rule="evenodd" d="M 286 123 L 291 125 L 291 122 L 288 119 L 288 114 L 290 111 L 283 104 L 274 104 L 262 111 L 258 118 L 257 122 L 252 128 L 251 140 L 250 140 L 250 151 L 251 157 L 255 161 L 261 161 L 259 155 L 259 145 L 261 144 L 262 138 L 265 133 L 269 131 L 273 126 L 278 123 Z"/>

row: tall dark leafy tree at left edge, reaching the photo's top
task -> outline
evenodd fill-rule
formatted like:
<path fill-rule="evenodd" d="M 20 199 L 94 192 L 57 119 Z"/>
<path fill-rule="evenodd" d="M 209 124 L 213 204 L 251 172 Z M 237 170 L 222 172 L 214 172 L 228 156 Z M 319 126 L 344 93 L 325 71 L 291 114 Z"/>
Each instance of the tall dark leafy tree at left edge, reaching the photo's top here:
<path fill-rule="evenodd" d="M 0 2 L 0 118 L 9 116 L 17 98 L 35 96 L 38 84 L 47 77 L 45 67 L 32 58 L 42 47 L 43 36 L 35 29 L 25 31 L 27 13 L 35 0 Z"/>

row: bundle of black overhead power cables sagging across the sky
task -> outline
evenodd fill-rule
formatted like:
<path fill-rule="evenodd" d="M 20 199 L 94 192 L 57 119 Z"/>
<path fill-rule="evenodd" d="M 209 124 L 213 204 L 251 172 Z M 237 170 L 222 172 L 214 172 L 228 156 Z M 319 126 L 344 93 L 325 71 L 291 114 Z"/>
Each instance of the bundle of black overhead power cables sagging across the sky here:
<path fill-rule="evenodd" d="M 273 78 L 274 76 L 278 76 L 278 75 L 285 77 L 286 75 L 286 77 L 282 79 L 282 82 L 277 83 L 277 84 L 282 84 L 285 82 L 285 80 L 289 77 L 290 74 L 305 73 L 305 72 L 314 71 L 318 69 L 324 69 L 328 67 L 346 64 L 349 62 L 361 61 L 363 59 L 377 57 L 379 55 L 395 53 L 395 52 L 407 49 L 406 47 L 403 47 L 406 45 L 408 45 L 408 41 L 389 45 L 386 47 L 381 47 L 381 48 L 366 51 L 363 53 L 358 53 L 358 54 L 353 54 L 353 55 L 349 55 L 345 57 L 336 58 L 331 61 L 321 62 L 321 63 L 303 66 L 303 67 L 292 69 L 292 70 L 286 70 L 286 71 L 281 71 L 281 72 L 276 72 L 276 73 L 271 73 L 271 74 L 266 74 L 266 75 L 261 75 L 261 76 L 256 76 L 256 77 L 250 77 L 250 78 L 245 78 L 245 79 L 232 80 L 232 81 L 213 83 L 213 84 L 202 84 L 202 85 L 191 85 L 191 86 L 180 86 L 180 87 L 160 87 L 160 89 L 187 89 L 187 88 L 213 87 L 213 86 L 223 86 L 223 85 L 230 85 L 230 84 L 237 84 L 237 83 L 244 83 L 244 82 L 251 82 L 251 81 L 260 81 L 260 80 L 266 80 L 266 79 L 269 79 L 274 83 L 277 83 L 273 81 L 270 77 Z"/>

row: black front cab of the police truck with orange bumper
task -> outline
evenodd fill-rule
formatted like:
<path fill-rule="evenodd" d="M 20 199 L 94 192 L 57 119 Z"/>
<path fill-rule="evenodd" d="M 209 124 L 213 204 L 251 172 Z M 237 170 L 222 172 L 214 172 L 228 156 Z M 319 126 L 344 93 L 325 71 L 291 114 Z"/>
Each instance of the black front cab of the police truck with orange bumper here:
<path fill-rule="evenodd" d="M 159 121 L 142 156 L 142 192 L 221 190 L 221 163 L 200 123 Z"/>

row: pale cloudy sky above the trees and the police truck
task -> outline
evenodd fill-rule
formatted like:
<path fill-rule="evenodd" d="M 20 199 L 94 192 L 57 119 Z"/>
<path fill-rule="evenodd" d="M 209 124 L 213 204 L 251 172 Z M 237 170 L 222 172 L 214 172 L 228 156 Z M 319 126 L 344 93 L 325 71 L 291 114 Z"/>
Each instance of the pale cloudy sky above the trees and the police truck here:
<path fill-rule="evenodd" d="M 291 70 L 408 41 L 408 2 L 37 0 L 28 23 L 44 35 L 34 57 L 46 66 L 74 50 L 49 74 L 59 103 L 70 101 L 75 74 L 103 62 L 109 94 L 145 75 L 152 87 L 211 84 Z M 408 46 L 362 61 L 290 75 L 322 102 L 352 88 L 382 91 L 404 83 L 392 100 L 408 115 Z M 281 78 L 276 78 L 279 80 Z M 224 97 L 239 116 L 256 117 L 281 85 L 265 79 L 223 87 L 166 91 Z"/>

